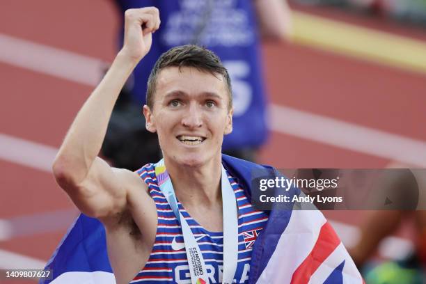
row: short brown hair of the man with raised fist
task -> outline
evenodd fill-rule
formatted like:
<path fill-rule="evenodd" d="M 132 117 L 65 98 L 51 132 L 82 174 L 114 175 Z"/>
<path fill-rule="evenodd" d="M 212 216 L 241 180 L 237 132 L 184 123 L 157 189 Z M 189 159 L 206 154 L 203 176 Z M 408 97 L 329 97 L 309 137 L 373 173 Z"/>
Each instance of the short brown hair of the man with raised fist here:
<path fill-rule="evenodd" d="M 154 107 L 154 94 L 157 84 L 157 77 L 159 72 L 167 67 L 177 66 L 192 67 L 200 71 L 209 72 L 216 76 L 221 74 L 225 79 L 226 88 L 228 90 L 228 109 L 232 107 L 232 88 L 228 70 L 223 66 L 219 57 L 214 52 L 199 47 L 198 45 L 181 45 L 168 49 L 167 52 L 161 54 L 151 70 L 150 77 L 148 78 L 148 88 L 146 90 L 146 104 L 152 110 Z"/>

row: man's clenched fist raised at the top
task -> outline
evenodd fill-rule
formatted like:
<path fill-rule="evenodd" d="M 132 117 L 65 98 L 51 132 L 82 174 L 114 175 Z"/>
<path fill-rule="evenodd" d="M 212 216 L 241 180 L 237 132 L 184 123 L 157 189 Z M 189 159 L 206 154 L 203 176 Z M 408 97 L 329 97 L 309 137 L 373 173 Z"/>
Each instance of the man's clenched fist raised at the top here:
<path fill-rule="evenodd" d="M 126 10 L 122 52 L 139 62 L 150 51 L 152 33 L 159 24 L 159 10 L 155 7 Z"/>

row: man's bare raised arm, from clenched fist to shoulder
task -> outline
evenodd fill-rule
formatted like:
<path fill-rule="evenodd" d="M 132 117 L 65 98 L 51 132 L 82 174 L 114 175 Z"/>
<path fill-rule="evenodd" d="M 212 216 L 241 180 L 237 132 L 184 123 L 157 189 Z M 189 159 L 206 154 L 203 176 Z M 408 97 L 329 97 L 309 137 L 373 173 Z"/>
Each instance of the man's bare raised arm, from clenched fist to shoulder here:
<path fill-rule="evenodd" d="M 56 181 L 79 210 L 89 216 L 102 219 L 122 212 L 127 205 L 128 188 L 140 182 L 135 173 L 111 168 L 97 155 L 118 94 L 136 64 L 149 52 L 152 33 L 159 23 L 157 8 L 126 11 L 123 49 L 81 107 L 56 155 Z"/>

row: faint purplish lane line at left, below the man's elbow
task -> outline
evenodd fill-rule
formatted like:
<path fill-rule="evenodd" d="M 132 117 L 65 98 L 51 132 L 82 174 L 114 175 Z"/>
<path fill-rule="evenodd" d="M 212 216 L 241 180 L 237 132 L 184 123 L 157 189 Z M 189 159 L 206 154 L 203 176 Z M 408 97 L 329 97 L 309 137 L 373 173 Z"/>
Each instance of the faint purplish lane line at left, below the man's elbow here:
<path fill-rule="evenodd" d="M 14 237 L 28 237 L 65 230 L 78 214 L 77 209 L 69 209 L 0 219 L 0 242 Z"/>

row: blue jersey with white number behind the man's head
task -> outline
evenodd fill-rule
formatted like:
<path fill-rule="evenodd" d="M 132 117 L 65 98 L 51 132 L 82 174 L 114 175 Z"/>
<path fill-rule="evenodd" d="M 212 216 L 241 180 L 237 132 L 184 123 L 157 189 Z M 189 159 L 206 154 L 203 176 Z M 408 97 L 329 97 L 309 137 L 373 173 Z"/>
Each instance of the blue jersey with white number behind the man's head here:
<path fill-rule="evenodd" d="M 267 138 L 266 95 L 263 86 L 255 10 L 246 0 L 117 0 L 119 8 L 155 6 L 161 26 L 150 52 L 137 65 L 132 96 L 145 104 L 146 84 L 159 56 L 177 45 L 196 44 L 216 53 L 228 69 L 234 104 L 233 131 L 223 150 L 257 148 Z M 124 19 L 123 19 L 124 23 Z M 123 29 L 122 29 L 123 30 Z M 123 33 L 120 36 L 120 46 Z"/>

